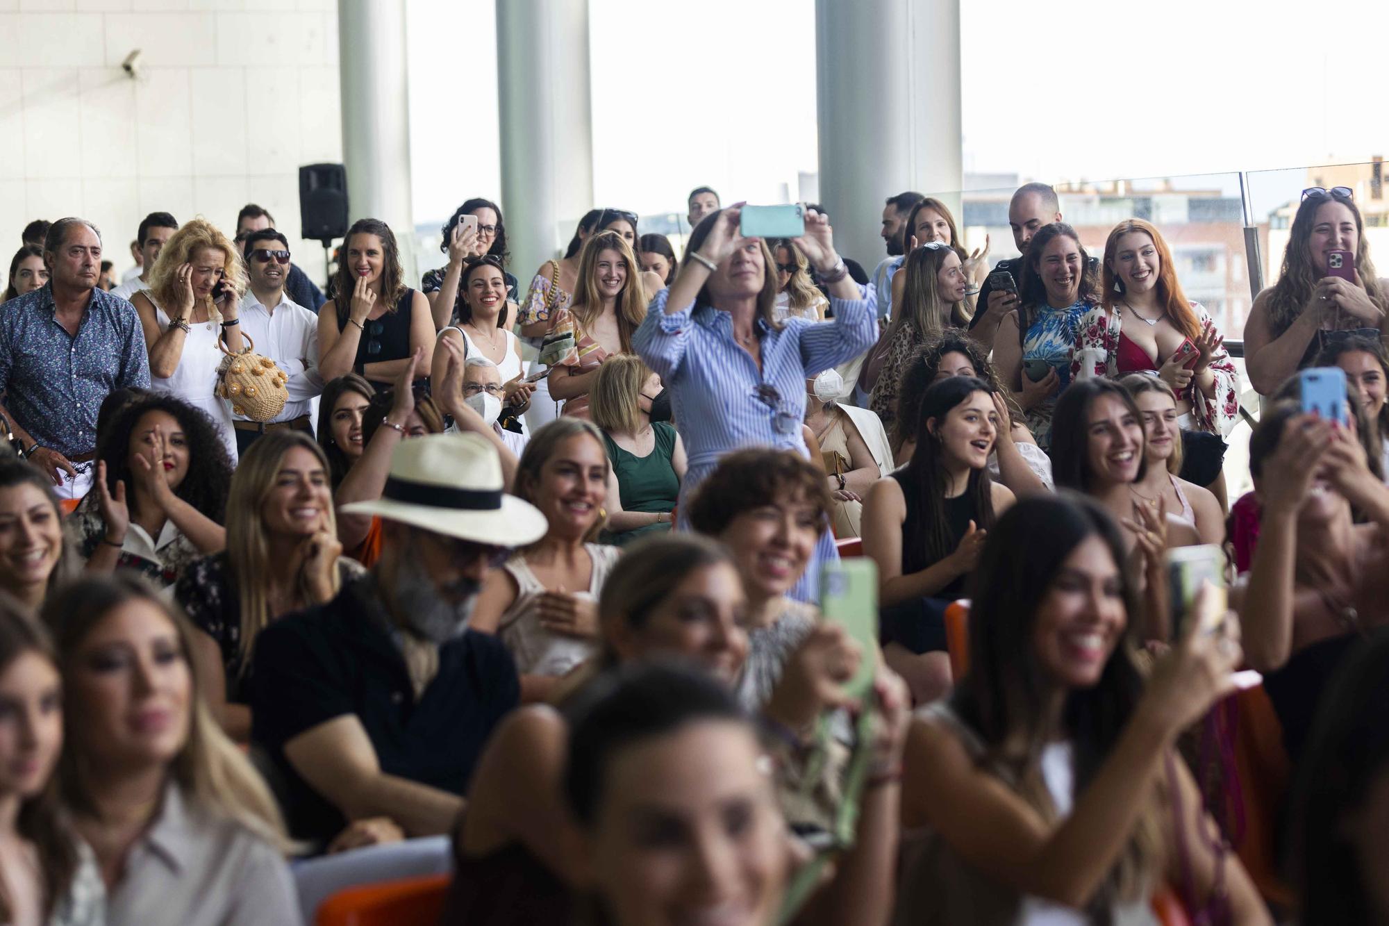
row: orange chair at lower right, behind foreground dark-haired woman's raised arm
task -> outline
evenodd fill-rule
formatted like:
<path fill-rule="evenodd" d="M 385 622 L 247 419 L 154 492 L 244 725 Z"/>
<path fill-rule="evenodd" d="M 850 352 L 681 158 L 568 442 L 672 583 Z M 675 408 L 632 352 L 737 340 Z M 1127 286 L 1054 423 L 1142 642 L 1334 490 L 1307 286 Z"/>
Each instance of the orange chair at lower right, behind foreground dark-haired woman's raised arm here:
<path fill-rule="evenodd" d="M 1275 850 L 1278 811 L 1288 798 L 1292 773 L 1283 727 L 1263 685 L 1239 691 L 1235 704 L 1235 769 L 1245 811 L 1245 831 L 1232 833 L 1239 836 L 1235 852 L 1264 900 L 1290 908 L 1293 891 L 1282 879 Z M 1226 820 L 1226 831 L 1232 823 Z"/>

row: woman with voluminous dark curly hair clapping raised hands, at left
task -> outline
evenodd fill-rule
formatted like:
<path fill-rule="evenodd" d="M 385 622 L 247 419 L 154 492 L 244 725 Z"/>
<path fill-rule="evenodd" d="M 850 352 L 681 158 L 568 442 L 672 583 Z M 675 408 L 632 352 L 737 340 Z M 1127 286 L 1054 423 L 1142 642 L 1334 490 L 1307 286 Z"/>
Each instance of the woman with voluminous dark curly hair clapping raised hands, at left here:
<path fill-rule="evenodd" d="M 167 588 L 226 546 L 232 462 L 206 414 L 171 395 L 125 405 L 97 450 L 96 485 L 67 534 L 89 573 L 133 569 Z"/>

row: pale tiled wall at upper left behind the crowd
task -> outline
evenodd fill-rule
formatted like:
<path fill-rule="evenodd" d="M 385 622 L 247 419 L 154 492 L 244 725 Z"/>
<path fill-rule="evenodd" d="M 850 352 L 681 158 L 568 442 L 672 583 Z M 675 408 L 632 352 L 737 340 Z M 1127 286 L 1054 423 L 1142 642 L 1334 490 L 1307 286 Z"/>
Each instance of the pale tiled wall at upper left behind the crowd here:
<path fill-rule="evenodd" d="M 0 0 L 0 260 L 76 214 L 124 270 L 146 213 L 231 232 L 256 202 L 321 285 L 299 165 L 340 161 L 340 127 L 333 0 Z"/>

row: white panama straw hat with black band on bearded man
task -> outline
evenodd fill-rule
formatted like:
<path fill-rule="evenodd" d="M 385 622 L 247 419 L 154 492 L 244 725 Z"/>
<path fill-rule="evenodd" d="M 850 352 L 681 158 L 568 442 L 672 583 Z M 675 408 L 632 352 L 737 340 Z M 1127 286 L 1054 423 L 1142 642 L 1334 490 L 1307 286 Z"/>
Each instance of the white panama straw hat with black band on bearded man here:
<path fill-rule="evenodd" d="M 549 521 L 540 509 L 504 487 L 501 460 L 486 438 L 429 434 L 396 445 L 379 499 L 340 510 L 494 546 L 525 546 L 544 537 Z"/>

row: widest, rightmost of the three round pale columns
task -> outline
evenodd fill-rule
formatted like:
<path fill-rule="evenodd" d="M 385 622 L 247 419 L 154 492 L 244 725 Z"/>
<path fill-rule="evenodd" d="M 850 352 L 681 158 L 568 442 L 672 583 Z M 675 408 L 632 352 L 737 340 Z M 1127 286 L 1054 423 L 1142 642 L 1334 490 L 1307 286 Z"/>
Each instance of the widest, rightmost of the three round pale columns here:
<path fill-rule="evenodd" d="M 839 252 L 871 271 L 883 200 L 963 185 L 960 0 L 815 0 L 815 85 L 820 199 Z"/>

